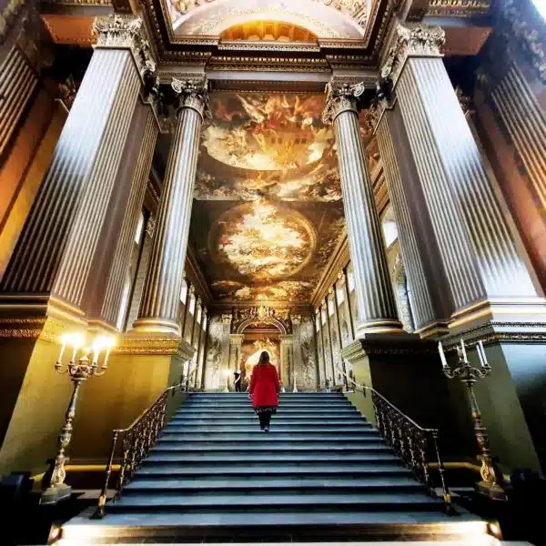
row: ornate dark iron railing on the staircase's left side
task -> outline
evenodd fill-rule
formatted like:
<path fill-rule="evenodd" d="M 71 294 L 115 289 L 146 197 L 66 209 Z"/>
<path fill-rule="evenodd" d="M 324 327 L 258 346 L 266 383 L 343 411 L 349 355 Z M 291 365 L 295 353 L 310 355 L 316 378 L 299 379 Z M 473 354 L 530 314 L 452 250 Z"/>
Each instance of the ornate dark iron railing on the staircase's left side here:
<path fill-rule="evenodd" d="M 189 381 L 196 372 L 197 366 L 187 374 L 186 379 L 181 380 L 177 385 L 165 389 L 159 398 L 147 410 L 144 410 L 126 429 L 116 429 L 113 431 L 110 454 L 106 463 L 105 484 L 98 498 L 98 506 L 93 514 L 94 519 L 104 518 L 106 513 L 108 486 L 112 476 L 119 439 L 121 438 L 121 460 L 116 480 L 114 501 L 119 498 L 123 488 L 133 479 L 136 470 L 140 468 L 142 461 L 146 459 L 149 451 L 156 445 L 159 435 L 167 426 L 167 402 L 169 396 L 174 397 L 177 392 L 187 392 Z"/>

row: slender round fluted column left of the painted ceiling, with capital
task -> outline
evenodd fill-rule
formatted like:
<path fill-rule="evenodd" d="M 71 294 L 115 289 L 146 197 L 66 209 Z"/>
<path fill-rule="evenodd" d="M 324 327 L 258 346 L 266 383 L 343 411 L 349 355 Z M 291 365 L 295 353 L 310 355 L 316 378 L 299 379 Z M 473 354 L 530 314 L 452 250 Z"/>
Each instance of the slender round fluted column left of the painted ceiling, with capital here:
<path fill-rule="evenodd" d="M 137 331 L 180 335 L 177 308 L 208 96 L 206 80 L 182 82 L 175 78 L 171 86 L 179 99 L 177 124 L 167 159 L 147 283 L 134 327 Z"/>

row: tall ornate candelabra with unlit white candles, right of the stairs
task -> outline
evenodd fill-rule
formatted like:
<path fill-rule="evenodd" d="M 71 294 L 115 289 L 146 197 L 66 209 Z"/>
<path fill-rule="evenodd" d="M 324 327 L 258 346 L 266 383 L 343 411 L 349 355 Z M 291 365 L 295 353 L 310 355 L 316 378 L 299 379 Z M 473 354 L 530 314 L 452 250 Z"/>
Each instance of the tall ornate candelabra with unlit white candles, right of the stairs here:
<path fill-rule="evenodd" d="M 441 342 L 438 343 L 438 350 L 444 374 L 450 379 L 460 379 L 467 389 L 470 412 L 474 423 L 474 436 L 480 449 L 478 459 L 481 461 L 481 480 L 476 484 L 476 487 L 480 493 L 489 496 L 491 499 L 506 501 L 506 493 L 501 486 L 501 473 L 493 464 L 487 429 L 481 420 L 480 406 L 478 406 L 478 401 L 474 393 L 474 384 L 476 381 L 478 379 L 485 379 L 491 371 L 485 350 L 483 349 L 483 343 L 480 341 L 476 345 L 478 357 L 480 358 L 480 368 L 470 366 L 462 339 L 460 340 L 460 346 L 457 346 L 458 361 L 456 364 L 448 364 Z"/>

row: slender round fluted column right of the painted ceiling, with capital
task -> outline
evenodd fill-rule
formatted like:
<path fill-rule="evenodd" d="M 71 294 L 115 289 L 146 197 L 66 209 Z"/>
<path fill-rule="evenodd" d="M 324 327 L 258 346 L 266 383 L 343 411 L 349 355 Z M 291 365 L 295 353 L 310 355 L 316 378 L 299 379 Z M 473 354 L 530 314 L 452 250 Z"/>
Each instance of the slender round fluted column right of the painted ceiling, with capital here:
<path fill-rule="evenodd" d="M 359 324 L 367 333 L 402 333 L 389 268 L 360 138 L 359 97 L 364 86 L 327 86 L 325 123 L 332 123 L 338 147 L 343 207 L 355 275 Z"/>

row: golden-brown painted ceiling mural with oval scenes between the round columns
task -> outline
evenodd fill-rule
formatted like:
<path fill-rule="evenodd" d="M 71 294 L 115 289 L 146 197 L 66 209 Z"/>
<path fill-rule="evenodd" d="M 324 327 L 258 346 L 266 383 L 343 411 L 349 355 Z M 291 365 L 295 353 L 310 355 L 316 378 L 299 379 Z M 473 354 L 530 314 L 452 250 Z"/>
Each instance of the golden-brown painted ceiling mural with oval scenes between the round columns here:
<path fill-rule="evenodd" d="M 345 226 L 323 108 L 320 95 L 212 95 L 190 243 L 215 299 L 308 303 Z"/>

